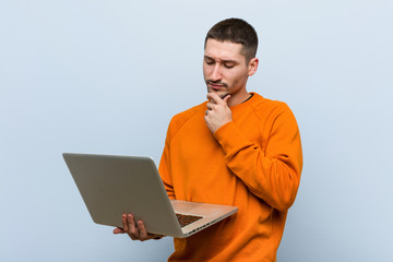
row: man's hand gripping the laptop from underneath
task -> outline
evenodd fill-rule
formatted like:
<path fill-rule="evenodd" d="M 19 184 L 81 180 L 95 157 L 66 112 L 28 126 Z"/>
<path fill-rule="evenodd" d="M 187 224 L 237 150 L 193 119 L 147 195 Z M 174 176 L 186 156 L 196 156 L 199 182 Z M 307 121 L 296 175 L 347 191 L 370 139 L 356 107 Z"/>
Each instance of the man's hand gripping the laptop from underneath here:
<path fill-rule="evenodd" d="M 146 231 L 143 221 L 136 224 L 132 214 L 123 214 L 122 217 L 123 228 L 117 227 L 114 234 L 128 234 L 132 240 L 145 241 L 148 239 L 160 239 L 163 236 L 150 234 Z"/>

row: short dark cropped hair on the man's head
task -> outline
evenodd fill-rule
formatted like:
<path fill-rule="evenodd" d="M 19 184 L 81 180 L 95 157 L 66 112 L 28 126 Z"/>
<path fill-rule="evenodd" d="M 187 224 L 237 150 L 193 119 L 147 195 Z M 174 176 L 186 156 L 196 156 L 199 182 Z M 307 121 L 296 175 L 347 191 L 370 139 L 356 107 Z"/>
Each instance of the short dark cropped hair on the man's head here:
<path fill-rule="evenodd" d="M 257 32 L 241 19 L 227 19 L 218 22 L 207 32 L 204 47 L 206 47 L 207 39 L 241 44 L 243 46 L 241 55 L 246 57 L 247 63 L 257 55 Z"/>

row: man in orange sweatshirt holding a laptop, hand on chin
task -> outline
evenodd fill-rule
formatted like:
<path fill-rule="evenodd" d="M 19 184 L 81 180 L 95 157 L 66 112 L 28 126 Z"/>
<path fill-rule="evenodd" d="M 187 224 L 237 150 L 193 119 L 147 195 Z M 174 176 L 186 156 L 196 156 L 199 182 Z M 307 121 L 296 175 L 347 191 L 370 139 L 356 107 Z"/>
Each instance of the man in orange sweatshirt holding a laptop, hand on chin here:
<path fill-rule="evenodd" d="M 298 127 L 286 104 L 246 90 L 258 69 L 258 37 L 229 19 L 205 38 L 207 100 L 176 115 L 159 164 L 169 198 L 237 206 L 238 213 L 186 239 L 169 261 L 275 261 L 302 168 Z M 136 240 L 159 238 L 123 215 Z"/>

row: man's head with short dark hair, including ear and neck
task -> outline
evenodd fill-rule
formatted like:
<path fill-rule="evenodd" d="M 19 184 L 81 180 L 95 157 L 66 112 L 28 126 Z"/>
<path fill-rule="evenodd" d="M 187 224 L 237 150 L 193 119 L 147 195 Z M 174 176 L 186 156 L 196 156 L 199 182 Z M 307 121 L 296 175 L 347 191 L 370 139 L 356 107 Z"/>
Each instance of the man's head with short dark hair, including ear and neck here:
<path fill-rule="evenodd" d="M 242 20 L 229 19 L 214 25 L 206 35 L 203 58 L 207 93 L 230 95 L 229 106 L 247 99 L 246 84 L 259 63 L 257 46 L 255 31 Z"/>

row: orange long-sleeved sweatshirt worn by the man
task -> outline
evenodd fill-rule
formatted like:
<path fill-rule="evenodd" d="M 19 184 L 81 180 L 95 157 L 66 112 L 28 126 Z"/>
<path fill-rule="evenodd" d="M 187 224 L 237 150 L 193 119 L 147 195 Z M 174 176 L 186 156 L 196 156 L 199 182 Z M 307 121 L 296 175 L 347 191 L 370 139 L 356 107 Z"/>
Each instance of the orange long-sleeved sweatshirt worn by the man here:
<path fill-rule="evenodd" d="M 302 154 L 288 106 L 253 93 L 214 134 L 206 103 L 176 115 L 159 164 L 169 198 L 237 206 L 238 213 L 186 239 L 168 261 L 275 261 Z"/>

